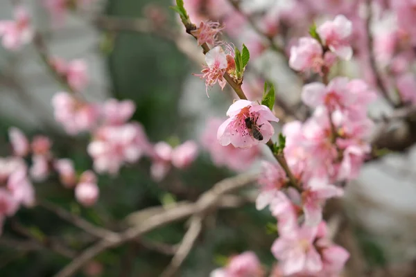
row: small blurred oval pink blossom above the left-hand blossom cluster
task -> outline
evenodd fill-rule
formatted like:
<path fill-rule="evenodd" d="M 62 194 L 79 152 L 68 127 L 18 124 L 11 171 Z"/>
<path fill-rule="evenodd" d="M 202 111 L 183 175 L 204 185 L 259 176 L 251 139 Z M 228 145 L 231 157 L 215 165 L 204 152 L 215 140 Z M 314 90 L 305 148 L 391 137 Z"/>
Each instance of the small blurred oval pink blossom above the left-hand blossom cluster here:
<path fill-rule="evenodd" d="M 69 87 L 74 91 L 85 89 L 88 83 L 87 63 L 84 60 L 72 60 L 67 64 L 66 72 Z"/>

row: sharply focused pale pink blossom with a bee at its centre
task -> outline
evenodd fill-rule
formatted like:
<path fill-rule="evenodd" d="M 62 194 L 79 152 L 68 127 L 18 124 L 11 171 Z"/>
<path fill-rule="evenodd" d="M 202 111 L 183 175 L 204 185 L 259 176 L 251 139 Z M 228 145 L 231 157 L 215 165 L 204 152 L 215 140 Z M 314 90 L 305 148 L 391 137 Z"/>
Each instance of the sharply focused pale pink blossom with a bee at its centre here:
<path fill-rule="evenodd" d="M 269 121 L 278 122 L 272 111 L 265 105 L 249 100 L 237 100 L 228 111 L 229 118 L 218 128 L 217 139 L 221 145 L 230 143 L 238 148 L 250 148 L 259 143 L 267 143 L 275 129 Z M 251 127 L 248 127 L 250 120 Z M 257 131 L 257 138 L 254 132 Z"/>

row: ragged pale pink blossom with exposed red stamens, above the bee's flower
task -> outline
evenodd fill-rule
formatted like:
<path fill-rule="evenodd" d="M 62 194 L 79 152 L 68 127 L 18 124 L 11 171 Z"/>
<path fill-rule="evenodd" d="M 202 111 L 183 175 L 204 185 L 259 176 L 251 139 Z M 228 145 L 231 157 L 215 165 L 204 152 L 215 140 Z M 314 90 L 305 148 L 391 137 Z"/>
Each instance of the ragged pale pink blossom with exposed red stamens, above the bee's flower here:
<path fill-rule="evenodd" d="M 227 81 L 223 75 L 227 71 L 228 60 L 227 55 L 221 46 L 215 46 L 205 55 L 205 62 L 207 66 L 202 69 L 202 74 L 194 74 L 202 79 L 205 79 L 205 85 L 208 87 L 214 86 L 216 82 L 220 85 L 221 89 L 224 89 Z M 207 90 L 208 95 L 208 90 Z"/>

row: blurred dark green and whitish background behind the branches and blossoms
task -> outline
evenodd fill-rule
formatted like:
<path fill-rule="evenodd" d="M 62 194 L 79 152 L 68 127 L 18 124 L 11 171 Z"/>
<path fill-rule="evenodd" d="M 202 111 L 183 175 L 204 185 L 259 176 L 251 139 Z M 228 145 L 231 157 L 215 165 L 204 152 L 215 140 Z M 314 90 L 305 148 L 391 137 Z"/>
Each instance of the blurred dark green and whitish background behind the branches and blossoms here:
<path fill-rule="evenodd" d="M 40 0 L 23 2 L 30 8 L 35 26 L 53 55 L 87 62 L 89 85 L 84 92 L 87 100 L 100 102 L 109 97 L 134 100 L 137 111 L 132 120 L 144 125 L 151 142 L 199 141 L 207 118 L 225 116 L 232 93 L 214 87 L 207 98 L 204 82 L 191 75 L 199 73 L 204 62 L 193 40 L 184 37 L 182 42 L 180 39 L 175 42 L 162 32 L 109 32 L 96 20 L 101 16 L 149 19 L 150 12 L 146 9 L 157 7 L 166 15 L 167 25 L 181 33 L 176 15 L 168 9 L 172 1 L 95 1 L 92 10 L 85 14 L 67 15 L 59 30 L 52 27 Z M 263 5 L 266 1 L 258 2 Z M 11 15 L 10 1 L 1 1 L 0 19 L 10 19 Z M 263 70 L 265 77 L 279 87 L 278 93 L 288 103 L 295 102 L 300 84 L 279 66 L 281 62 L 284 62 L 281 58 L 265 53 L 253 64 L 253 69 Z M 9 127 L 16 126 L 29 137 L 35 134 L 51 137 L 53 152 L 72 159 L 78 172 L 92 168 L 92 159 L 85 153 L 89 137 L 67 136 L 53 118 L 51 98 L 61 90 L 33 46 L 25 46 L 18 53 L 0 49 L 1 156 L 10 154 L 7 132 Z M 372 107 L 373 114 L 381 111 L 385 111 L 383 102 Z M 410 150 L 406 154 L 390 154 L 371 163 L 363 168 L 360 179 L 349 184 L 347 198 L 341 205 L 347 211 L 357 247 L 367 265 L 383 267 L 388 262 L 407 262 L 416 257 L 413 153 Z M 94 208 L 80 206 L 73 192 L 60 186 L 56 177 L 35 184 L 35 190 L 39 199 L 47 199 L 99 226 L 120 231 L 129 224 L 125 217 L 134 211 L 173 201 L 194 201 L 217 181 L 235 175 L 232 170 L 214 166 L 203 150 L 191 168 L 173 170 L 159 183 L 150 179 L 149 167 L 150 161 L 142 159 L 134 166 L 123 167 L 116 177 L 100 175 L 101 195 Z M 258 168 L 256 163 L 252 170 Z M 270 222 L 274 220 L 268 211 L 256 211 L 254 204 L 217 213 L 216 220 L 207 223 L 179 276 L 209 276 L 212 269 L 224 265 L 227 257 L 246 250 L 256 252 L 261 262 L 270 267 L 275 262 L 270 245 L 276 238 Z M 24 244 L 19 244 L 26 240 L 19 226 L 24 226 L 31 236 L 57 240 L 73 249 L 83 249 L 94 242 L 94 238 L 41 206 L 21 209 L 15 218 L 6 221 L 0 238 L 1 277 L 53 276 L 69 262 L 48 249 L 25 249 Z M 152 231 L 144 236 L 143 243 L 105 251 L 76 276 L 159 276 L 171 260 L 171 254 L 160 252 L 169 252 L 169 246 L 180 242 L 184 231 L 186 222 Z M 166 251 L 160 251 L 160 247 Z"/>

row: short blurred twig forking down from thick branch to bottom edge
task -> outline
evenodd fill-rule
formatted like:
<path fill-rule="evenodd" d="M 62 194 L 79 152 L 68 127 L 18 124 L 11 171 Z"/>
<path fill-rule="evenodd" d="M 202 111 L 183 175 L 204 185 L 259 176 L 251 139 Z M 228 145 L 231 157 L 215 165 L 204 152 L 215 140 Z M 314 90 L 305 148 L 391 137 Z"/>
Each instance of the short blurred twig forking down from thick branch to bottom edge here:
<path fill-rule="evenodd" d="M 193 244 L 196 242 L 198 235 L 202 231 L 202 217 L 200 215 L 193 215 L 191 217 L 191 224 L 187 233 L 184 235 L 180 247 L 177 249 L 175 256 L 173 256 L 171 263 L 162 272 L 162 277 L 171 277 L 182 265 L 182 262 L 187 258 L 191 251 Z"/>

